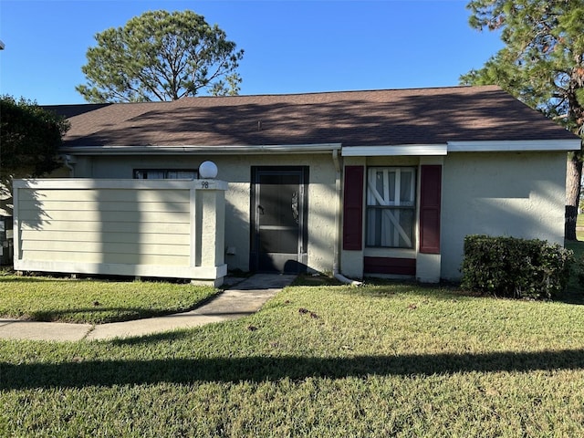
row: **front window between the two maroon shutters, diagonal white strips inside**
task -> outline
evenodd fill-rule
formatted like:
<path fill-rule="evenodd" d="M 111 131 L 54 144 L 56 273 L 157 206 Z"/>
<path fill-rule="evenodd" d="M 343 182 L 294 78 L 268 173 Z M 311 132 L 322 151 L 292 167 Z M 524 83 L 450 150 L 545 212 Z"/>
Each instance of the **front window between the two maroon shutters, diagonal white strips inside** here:
<path fill-rule="evenodd" d="M 379 193 L 377 187 L 377 174 L 383 171 L 383 193 Z M 410 179 L 410 193 L 406 201 L 401 200 L 401 175 L 402 172 L 408 172 L 411 174 Z M 414 249 L 416 245 L 416 208 L 417 208 L 417 171 L 418 168 L 414 166 L 370 166 L 367 168 L 367 178 L 366 178 L 366 188 L 365 188 L 365 246 L 368 248 L 387 248 L 387 249 Z M 395 172 L 394 187 L 391 193 L 390 190 L 390 180 L 391 172 Z M 391 200 L 391 195 L 393 199 Z M 393 224 L 392 229 L 394 230 L 394 235 L 391 238 L 391 245 L 373 245 L 377 241 L 381 241 L 382 237 L 378 235 L 373 235 L 372 238 L 370 233 L 376 233 L 376 230 L 370 230 L 370 212 L 371 211 L 389 211 L 389 212 L 400 212 L 408 211 L 412 214 L 412 228 L 407 231 L 401 228 L 397 229 L 394 221 L 399 224 L 399 217 L 396 219 L 393 214 L 391 217 L 391 223 Z M 382 225 L 381 225 L 382 226 Z M 404 237 L 405 235 L 405 237 Z M 371 240 L 373 244 L 371 244 Z M 400 245 L 404 242 L 405 245 Z"/>

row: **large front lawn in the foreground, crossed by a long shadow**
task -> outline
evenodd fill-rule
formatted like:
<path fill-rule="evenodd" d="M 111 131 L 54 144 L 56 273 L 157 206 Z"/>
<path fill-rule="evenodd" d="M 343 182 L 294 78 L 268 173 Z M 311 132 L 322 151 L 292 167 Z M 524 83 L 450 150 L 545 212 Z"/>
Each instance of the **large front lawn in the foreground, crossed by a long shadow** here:
<path fill-rule="evenodd" d="M 582 436 L 582 381 L 581 306 L 296 286 L 202 328 L 0 340 L 0 436 Z"/>

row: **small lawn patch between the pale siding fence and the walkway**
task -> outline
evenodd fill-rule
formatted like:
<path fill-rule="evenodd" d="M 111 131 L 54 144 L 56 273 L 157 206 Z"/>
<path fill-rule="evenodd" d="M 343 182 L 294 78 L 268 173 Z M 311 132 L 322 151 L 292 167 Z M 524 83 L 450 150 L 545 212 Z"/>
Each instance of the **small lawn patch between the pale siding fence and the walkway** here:
<path fill-rule="evenodd" d="M 189 284 L 5 273 L 0 276 L 0 317 L 102 324 L 190 310 L 215 293 L 213 287 Z"/>

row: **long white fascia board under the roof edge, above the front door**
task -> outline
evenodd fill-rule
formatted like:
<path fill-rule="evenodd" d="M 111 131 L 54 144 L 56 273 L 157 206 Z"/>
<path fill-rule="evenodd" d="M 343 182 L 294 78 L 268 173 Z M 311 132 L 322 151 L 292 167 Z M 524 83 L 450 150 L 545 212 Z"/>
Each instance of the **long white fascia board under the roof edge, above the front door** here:
<path fill-rule="evenodd" d="M 323 153 L 339 151 L 340 143 L 320 144 L 265 144 L 257 146 L 73 146 L 60 148 L 60 153 L 72 155 L 222 155 L 222 154 L 263 154 L 263 153 Z"/>

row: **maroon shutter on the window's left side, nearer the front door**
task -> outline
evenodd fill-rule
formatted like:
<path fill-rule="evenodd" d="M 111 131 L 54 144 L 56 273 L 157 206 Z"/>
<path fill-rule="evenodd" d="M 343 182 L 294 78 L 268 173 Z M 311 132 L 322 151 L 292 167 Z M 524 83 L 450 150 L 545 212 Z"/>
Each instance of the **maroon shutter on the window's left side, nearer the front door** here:
<path fill-rule="evenodd" d="M 343 200 L 343 249 L 363 246 L 363 166 L 345 167 Z"/>

